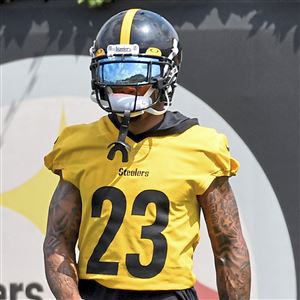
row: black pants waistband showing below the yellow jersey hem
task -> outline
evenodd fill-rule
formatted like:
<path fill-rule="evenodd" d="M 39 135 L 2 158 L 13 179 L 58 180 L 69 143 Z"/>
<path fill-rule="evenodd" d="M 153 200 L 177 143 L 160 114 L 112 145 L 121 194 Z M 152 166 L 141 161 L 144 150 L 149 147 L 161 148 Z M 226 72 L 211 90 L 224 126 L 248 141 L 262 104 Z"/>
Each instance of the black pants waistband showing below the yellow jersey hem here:
<path fill-rule="evenodd" d="M 79 280 L 84 300 L 198 300 L 194 288 L 178 291 L 128 291 L 110 289 L 94 280 Z"/>

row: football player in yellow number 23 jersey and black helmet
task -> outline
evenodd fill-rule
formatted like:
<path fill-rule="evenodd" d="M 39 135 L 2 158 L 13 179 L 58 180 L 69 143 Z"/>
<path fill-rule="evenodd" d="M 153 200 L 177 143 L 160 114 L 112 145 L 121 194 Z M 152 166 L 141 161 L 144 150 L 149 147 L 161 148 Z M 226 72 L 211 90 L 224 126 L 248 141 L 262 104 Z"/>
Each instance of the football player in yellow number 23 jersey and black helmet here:
<path fill-rule="evenodd" d="M 182 57 L 173 26 L 151 11 L 120 12 L 90 54 L 91 97 L 108 114 L 65 128 L 45 157 L 60 176 L 44 242 L 53 294 L 197 299 L 202 210 L 220 299 L 249 299 L 249 255 L 228 182 L 239 164 L 224 135 L 168 110 Z"/>

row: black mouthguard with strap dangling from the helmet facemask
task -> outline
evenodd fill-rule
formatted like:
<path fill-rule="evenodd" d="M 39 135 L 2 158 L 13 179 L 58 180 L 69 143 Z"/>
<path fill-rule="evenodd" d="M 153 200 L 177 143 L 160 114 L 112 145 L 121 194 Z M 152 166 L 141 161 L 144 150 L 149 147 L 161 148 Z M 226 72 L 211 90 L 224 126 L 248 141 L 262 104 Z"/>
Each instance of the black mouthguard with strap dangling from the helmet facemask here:
<path fill-rule="evenodd" d="M 128 152 L 131 150 L 131 147 L 125 142 L 125 139 L 128 134 L 129 122 L 130 111 L 125 110 L 124 116 L 122 118 L 118 140 L 116 142 L 111 143 L 107 147 L 111 148 L 107 155 L 107 158 L 109 160 L 113 160 L 116 155 L 116 152 L 120 151 L 122 153 L 122 162 L 128 162 Z"/>

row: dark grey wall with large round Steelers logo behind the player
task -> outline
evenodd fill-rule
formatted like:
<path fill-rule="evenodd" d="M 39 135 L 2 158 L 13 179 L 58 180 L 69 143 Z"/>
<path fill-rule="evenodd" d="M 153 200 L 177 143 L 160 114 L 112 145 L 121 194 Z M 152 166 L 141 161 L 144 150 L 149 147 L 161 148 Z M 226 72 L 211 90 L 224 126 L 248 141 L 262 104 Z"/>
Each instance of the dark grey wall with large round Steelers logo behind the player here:
<path fill-rule="evenodd" d="M 43 155 L 62 126 L 102 114 L 88 101 L 88 49 L 111 15 L 131 7 L 174 24 L 184 54 L 173 109 L 225 132 L 241 162 L 232 185 L 253 261 L 252 298 L 297 299 L 299 6 L 279 0 L 124 0 L 94 10 L 71 0 L 1 5 L 0 299 L 52 297 L 41 245 L 57 179 L 42 167 Z M 196 255 L 198 290 L 213 299 L 205 234 Z"/>

